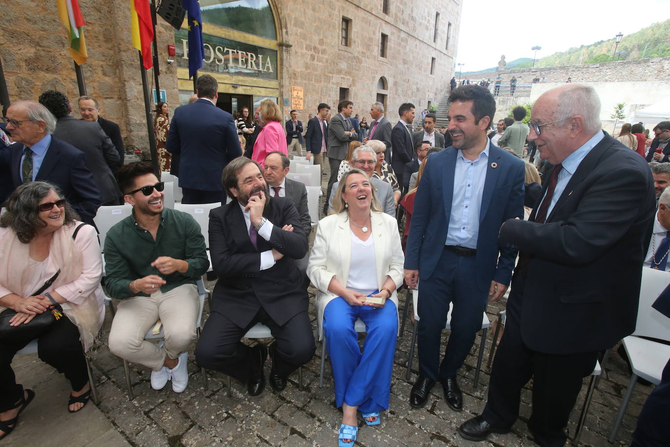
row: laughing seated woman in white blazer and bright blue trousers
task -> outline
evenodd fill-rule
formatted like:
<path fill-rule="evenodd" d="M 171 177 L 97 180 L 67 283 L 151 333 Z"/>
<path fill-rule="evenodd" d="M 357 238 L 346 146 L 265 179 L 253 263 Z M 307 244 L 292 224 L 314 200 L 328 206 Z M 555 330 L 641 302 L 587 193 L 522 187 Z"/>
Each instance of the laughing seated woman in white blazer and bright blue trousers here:
<path fill-rule="evenodd" d="M 395 218 L 384 214 L 371 180 L 358 169 L 342 176 L 334 195 L 335 214 L 323 218 L 307 273 L 316 294 L 321 333 L 332 365 L 335 399 L 342 407 L 338 444 L 352 446 L 356 411 L 368 425 L 389 407 L 391 369 L 398 332 L 398 298 L 405 257 Z M 367 336 L 358 347 L 354 322 Z"/>

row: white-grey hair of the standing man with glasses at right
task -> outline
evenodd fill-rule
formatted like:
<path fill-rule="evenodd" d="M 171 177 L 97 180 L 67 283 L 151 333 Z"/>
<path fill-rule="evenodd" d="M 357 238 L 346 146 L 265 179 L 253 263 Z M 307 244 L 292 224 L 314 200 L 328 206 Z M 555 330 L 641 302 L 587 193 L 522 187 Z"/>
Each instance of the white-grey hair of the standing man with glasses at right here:
<path fill-rule="evenodd" d="M 584 130 L 596 133 L 600 123 L 600 98 L 596 89 L 584 84 L 572 84 L 561 90 L 556 101 L 557 119 L 568 119 L 575 115 L 584 118 Z"/>

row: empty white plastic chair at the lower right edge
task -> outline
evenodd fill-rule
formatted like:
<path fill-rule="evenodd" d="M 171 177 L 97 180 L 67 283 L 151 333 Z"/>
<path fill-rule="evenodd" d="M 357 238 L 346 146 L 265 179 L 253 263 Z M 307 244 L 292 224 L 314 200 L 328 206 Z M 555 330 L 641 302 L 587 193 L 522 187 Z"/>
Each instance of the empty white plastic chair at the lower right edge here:
<path fill-rule="evenodd" d="M 632 390 L 637 383 L 637 378 L 642 377 L 658 385 L 661 383 L 661 374 L 665 364 L 670 359 L 670 346 L 667 344 L 647 340 L 645 337 L 658 338 L 670 341 L 670 324 L 668 319 L 655 310 L 651 305 L 659 297 L 661 292 L 670 283 L 670 272 L 650 269 L 642 269 L 642 285 L 640 288 L 640 304 L 637 310 L 637 321 L 635 332 L 622 340 L 626 349 L 626 355 L 630 361 L 630 381 L 624 395 L 621 409 L 616 416 L 616 421 L 610 434 L 610 442 L 614 442 L 616 432 L 619 430 Z"/>

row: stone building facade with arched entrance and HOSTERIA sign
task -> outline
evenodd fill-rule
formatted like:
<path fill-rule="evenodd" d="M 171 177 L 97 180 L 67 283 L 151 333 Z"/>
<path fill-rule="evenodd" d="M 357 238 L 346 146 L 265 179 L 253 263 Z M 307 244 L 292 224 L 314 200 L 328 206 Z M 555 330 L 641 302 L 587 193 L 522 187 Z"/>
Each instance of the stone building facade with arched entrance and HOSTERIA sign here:
<path fill-rule="evenodd" d="M 88 94 L 98 99 L 103 117 L 121 125 L 126 144 L 147 149 L 129 5 L 79 3 L 86 21 L 88 60 L 82 68 Z M 380 99 L 395 122 L 401 103 L 414 103 L 417 113 L 429 102 L 436 105 L 453 76 L 461 13 L 456 0 L 201 0 L 200 5 L 209 63 L 198 73 L 218 79 L 218 105 L 231 112 L 273 98 L 286 113 L 298 109 L 298 118 L 306 121 L 318 103 L 335 109 L 346 98 L 356 113 L 370 119 L 369 107 Z M 10 101 L 37 99 L 50 88 L 74 101 L 78 87 L 56 2 L 17 0 L 3 6 L 0 21 L 0 59 Z M 186 31 L 158 19 L 159 86 L 171 109 L 185 103 L 193 89 L 188 61 L 185 65 L 182 59 L 185 38 Z M 169 44 L 176 56 L 168 56 Z M 153 88 L 152 72 L 147 76 Z M 76 104 L 73 109 L 78 117 Z"/>

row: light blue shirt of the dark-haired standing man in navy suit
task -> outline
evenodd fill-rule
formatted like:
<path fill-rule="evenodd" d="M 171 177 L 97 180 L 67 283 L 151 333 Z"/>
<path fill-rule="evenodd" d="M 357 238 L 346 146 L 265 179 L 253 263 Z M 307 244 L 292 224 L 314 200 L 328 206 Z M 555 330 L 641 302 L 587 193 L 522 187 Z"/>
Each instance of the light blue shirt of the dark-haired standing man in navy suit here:
<path fill-rule="evenodd" d="M 465 158 L 462 151 L 458 151 L 456 155 L 452 212 L 445 245 L 477 248 L 479 213 L 488 166 L 488 144 L 474 162 Z"/>

